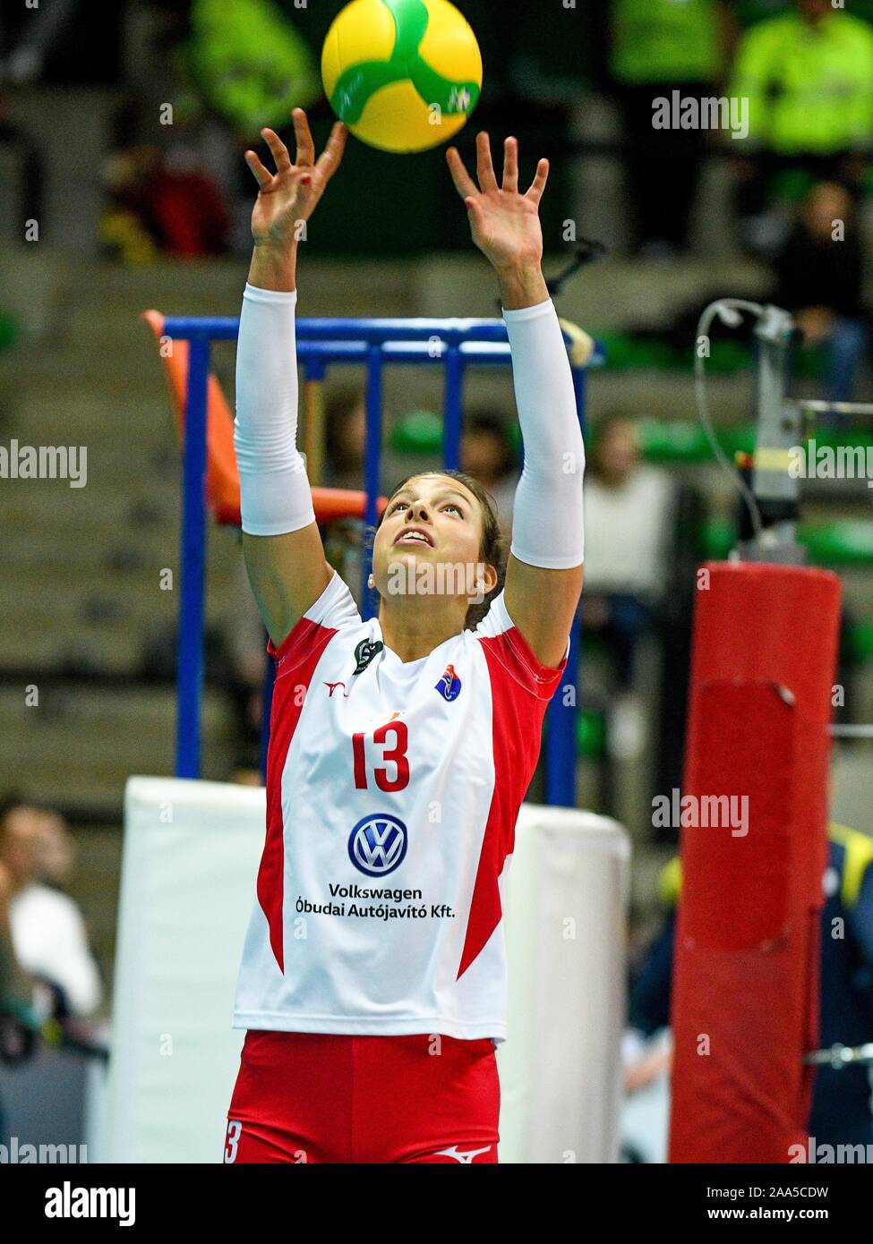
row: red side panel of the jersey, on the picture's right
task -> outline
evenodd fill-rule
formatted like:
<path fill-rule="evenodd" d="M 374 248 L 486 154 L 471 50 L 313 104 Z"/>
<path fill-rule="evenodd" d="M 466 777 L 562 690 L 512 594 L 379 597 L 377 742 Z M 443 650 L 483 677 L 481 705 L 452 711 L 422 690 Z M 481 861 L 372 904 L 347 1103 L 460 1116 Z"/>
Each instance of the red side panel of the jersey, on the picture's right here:
<path fill-rule="evenodd" d="M 537 768 L 543 717 L 567 666 L 543 666 L 516 627 L 479 637 L 492 694 L 494 794 L 482 840 L 470 921 L 458 965 L 461 978 L 501 922 L 498 878 L 514 846 L 518 809 Z"/>

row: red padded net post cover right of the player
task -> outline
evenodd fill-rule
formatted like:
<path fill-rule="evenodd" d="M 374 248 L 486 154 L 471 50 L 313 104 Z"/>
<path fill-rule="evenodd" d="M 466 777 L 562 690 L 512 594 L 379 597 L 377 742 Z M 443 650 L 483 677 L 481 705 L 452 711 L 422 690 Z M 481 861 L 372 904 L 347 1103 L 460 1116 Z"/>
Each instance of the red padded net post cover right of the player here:
<path fill-rule="evenodd" d="M 670 1161 L 781 1163 L 807 1136 L 802 1060 L 817 1044 L 841 585 L 806 567 L 705 571 L 682 790 Z"/>

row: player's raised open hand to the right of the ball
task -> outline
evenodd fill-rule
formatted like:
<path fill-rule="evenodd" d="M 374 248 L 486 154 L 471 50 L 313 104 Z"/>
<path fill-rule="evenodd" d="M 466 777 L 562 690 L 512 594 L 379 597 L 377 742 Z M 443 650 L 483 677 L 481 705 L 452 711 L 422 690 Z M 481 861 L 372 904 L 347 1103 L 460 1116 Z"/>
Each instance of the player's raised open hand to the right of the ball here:
<path fill-rule="evenodd" d="M 487 133 L 476 136 L 476 173 L 472 179 L 456 147 L 446 159 L 455 187 L 470 213 L 473 241 L 497 269 L 506 271 L 539 266 L 543 258 L 543 230 L 539 200 L 549 175 L 549 162 L 540 159 L 537 174 L 526 193 L 518 189 L 518 139 L 503 144 L 503 184 L 497 184 Z"/>

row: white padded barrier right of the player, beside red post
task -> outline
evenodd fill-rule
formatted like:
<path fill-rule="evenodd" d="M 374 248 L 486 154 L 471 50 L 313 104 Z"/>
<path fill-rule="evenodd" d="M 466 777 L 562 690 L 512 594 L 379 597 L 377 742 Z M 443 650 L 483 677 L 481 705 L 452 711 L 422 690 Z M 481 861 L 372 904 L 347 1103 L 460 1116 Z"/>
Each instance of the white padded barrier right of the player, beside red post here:
<path fill-rule="evenodd" d="M 501 1162 L 618 1162 L 630 842 L 523 804 L 507 888 Z"/>

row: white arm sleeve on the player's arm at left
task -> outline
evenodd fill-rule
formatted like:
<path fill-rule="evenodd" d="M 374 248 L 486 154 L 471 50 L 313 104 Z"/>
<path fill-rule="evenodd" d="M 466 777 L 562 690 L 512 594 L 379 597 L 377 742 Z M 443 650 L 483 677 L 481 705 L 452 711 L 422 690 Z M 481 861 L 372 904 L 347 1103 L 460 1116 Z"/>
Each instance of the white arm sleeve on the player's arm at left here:
<path fill-rule="evenodd" d="M 245 284 L 237 342 L 234 447 L 243 531 L 278 536 L 315 521 L 306 464 L 296 447 L 296 290 Z"/>

